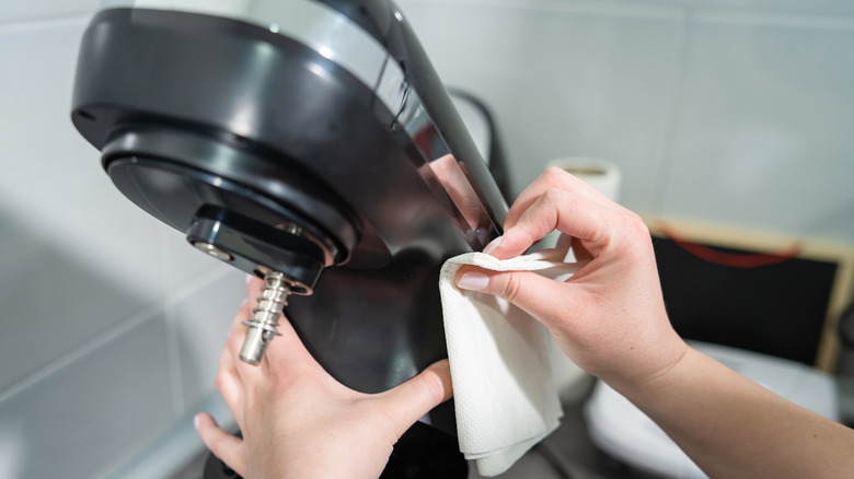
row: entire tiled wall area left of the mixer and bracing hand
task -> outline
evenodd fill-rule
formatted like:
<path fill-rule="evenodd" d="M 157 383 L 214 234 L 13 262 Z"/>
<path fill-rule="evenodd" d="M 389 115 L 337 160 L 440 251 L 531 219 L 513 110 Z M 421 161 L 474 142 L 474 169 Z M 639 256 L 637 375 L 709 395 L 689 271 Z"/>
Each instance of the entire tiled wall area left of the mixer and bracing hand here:
<path fill-rule="evenodd" d="M 212 395 L 245 290 L 127 201 L 73 129 L 77 49 L 96 3 L 0 7 L 4 479 L 91 478 Z"/>

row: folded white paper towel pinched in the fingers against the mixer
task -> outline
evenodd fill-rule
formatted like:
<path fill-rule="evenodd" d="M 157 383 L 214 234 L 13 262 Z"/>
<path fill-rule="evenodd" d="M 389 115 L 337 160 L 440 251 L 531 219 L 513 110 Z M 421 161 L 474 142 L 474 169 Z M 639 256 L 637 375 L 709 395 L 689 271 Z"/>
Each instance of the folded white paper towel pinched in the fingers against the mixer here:
<path fill-rule="evenodd" d="M 442 267 L 439 290 L 460 451 L 476 460 L 482 476 L 507 470 L 557 428 L 563 411 L 551 377 L 545 327 L 505 300 L 458 289 L 457 271 L 475 265 L 564 280 L 577 269 L 565 257 L 565 249 L 507 260 L 469 253 Z"/>

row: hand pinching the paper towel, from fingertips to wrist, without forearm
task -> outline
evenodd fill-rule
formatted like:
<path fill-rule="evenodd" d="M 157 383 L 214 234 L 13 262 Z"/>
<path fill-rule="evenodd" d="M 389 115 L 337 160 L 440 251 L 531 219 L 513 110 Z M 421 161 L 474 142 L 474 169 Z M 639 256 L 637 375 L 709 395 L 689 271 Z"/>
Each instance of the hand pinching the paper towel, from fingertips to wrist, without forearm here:
<path fill-rule="evenodd" d="M 568 173 L 550 168 L 513 203 L 498 259 L 554 230 L 572 237 L 581 269 L 566 282 L 532 272 L 462 268 L 457 284 L 504 297 L 543 323 L 576 364 L 612 386 L 653 381 L 688 347 L 665 311 L 649 231 L 639 217 Z"/>

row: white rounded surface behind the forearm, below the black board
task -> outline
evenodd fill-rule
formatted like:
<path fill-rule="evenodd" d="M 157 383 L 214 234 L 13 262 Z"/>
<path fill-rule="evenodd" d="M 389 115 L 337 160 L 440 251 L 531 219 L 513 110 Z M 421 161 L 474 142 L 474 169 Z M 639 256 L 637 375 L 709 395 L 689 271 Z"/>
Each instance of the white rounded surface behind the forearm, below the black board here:
<path fill-rule="evenodd" d="M 794 361 L 750 351 L 703 342 L 692 346 L 775 394 L 839 420 L 831 376 Z M 662 477 L 706 477 L 651 419 L 602 382 L 586 406 L 585 418 L 593 442 L 631 466 Z"/>

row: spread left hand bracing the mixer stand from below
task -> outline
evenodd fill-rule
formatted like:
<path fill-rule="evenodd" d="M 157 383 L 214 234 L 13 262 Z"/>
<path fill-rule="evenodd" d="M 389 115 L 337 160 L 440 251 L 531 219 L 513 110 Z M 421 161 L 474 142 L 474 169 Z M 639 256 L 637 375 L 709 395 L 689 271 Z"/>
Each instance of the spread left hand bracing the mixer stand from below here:
<path fill-rule="evenodd" d="M 249 297 L 258 297 L 261 285 L 251 281 Z M 314 361 L 284 318 L 281 336 L 261 364 L 243 363 L 239 354 L 246 326 L 241 322 L 251 315 L 244 303 L 217 374 L 217 388 L 243 440 L 219 429 L 209 414 L 196 417 L 208 448 L 243 477 L 377 478 L 400 436 L 451 397 L 447 360 L 385 393 L 349 389 Z"/>

